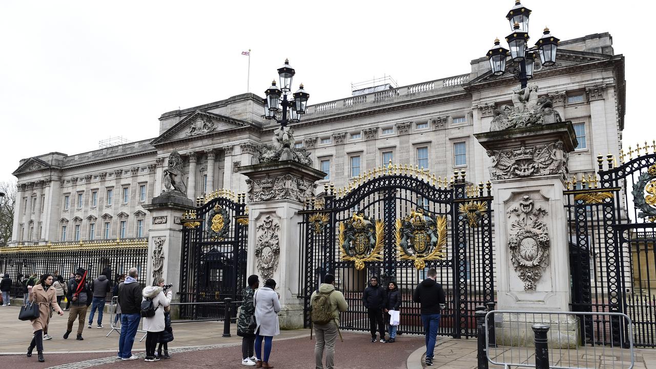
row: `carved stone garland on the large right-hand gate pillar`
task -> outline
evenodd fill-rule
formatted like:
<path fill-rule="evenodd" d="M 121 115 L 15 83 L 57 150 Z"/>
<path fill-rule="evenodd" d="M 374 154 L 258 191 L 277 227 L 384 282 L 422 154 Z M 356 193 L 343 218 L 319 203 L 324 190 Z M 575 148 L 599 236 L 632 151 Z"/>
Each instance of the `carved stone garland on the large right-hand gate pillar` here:
<path fill-rule="evenodd" d="M 517 219 L 510 223 L 508 249 L 510 261 L 525 291 L 535 291 L 542 271 L 549 265 L 549 232 L 540 219 L 547 215 L 542 207 L 535 207 L 531 196 L 523 196 L 516 206 L 506 211 L 508 217 Z"/>

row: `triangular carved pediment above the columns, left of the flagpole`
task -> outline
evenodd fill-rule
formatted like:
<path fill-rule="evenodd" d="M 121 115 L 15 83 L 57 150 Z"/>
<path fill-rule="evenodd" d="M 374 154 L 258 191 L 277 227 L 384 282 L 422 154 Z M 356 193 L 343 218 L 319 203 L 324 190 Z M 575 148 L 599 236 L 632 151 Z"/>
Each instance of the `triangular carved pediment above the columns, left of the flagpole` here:
<path fill-rule="evenodd" d="M 215 135 L 231 129 L 248 126 L 249 123 L 239 119 L 196 110 L 150 143 L 155 145 L 169 141 L 193 139 L 194 137 Z"/>

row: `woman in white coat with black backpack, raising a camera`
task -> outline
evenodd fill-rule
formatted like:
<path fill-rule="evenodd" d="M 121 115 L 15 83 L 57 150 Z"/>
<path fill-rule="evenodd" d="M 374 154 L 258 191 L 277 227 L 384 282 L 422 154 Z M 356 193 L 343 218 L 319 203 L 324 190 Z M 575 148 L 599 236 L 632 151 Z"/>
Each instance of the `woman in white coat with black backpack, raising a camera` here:
<path fill-rule="evenodd" d="M 164 278 L 157 277 L 153 281 L 152 286 L 144 288 L 141 295 L 144 297 L 142 301 L 151 299 L 153 307 L 155 308 L 155 315 L 144 317 L 144 330 L 146 333 L 146 360 L 157 361 L 159 358 L 155 357 L 155 349 L 157 348 L 157 341 L 159 335 L 165 328 L 164 323 L 164 308 L 169 306 L 171 298 L 173 297 L 171 290 L 166 293 L 164 290 Z"/>

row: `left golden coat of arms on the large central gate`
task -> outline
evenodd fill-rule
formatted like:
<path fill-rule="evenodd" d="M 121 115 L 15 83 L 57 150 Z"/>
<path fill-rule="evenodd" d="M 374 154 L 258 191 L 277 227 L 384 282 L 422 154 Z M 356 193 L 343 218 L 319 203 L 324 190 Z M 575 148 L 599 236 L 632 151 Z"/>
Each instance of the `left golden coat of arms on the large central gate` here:
<path fill-rule="evenodd" d="M 362 213 L 354 214 L 339 223 L 339 249 L 343 261 L 354 261 L 356 269 L 365 261 L 381 261 L 384 244 L 384 225 Z"/>

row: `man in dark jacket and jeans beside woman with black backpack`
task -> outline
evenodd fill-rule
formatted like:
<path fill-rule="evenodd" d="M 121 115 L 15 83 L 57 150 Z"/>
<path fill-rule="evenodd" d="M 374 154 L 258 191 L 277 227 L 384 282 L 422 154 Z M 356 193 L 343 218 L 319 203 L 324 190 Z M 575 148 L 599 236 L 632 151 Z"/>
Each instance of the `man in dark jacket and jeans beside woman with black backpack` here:
<path fill-rule="evenodd" d="M 121 336 L 119 337 L 119 358 L 121 360 L 135 360 L 132 355 L 134 335 L 139 328 L 141 320 L 141 284 L 137 282 L 138 270 L 131 268 L 127 271 L 125 282 L 119 287 L 119 305 L 121 305 Z"/>

